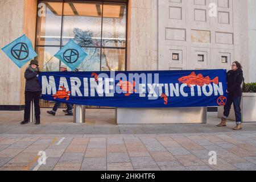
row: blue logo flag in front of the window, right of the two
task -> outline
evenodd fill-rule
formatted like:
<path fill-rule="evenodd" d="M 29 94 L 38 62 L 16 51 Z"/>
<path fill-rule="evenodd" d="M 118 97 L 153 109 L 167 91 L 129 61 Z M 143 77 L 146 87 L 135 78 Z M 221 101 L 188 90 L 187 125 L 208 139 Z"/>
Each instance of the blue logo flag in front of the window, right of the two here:
<path fill-rule="evenodd" d="M 73 40 L 69 40 L 54 56 L 73 71 L 82 63 L 87 54 Z"/>

